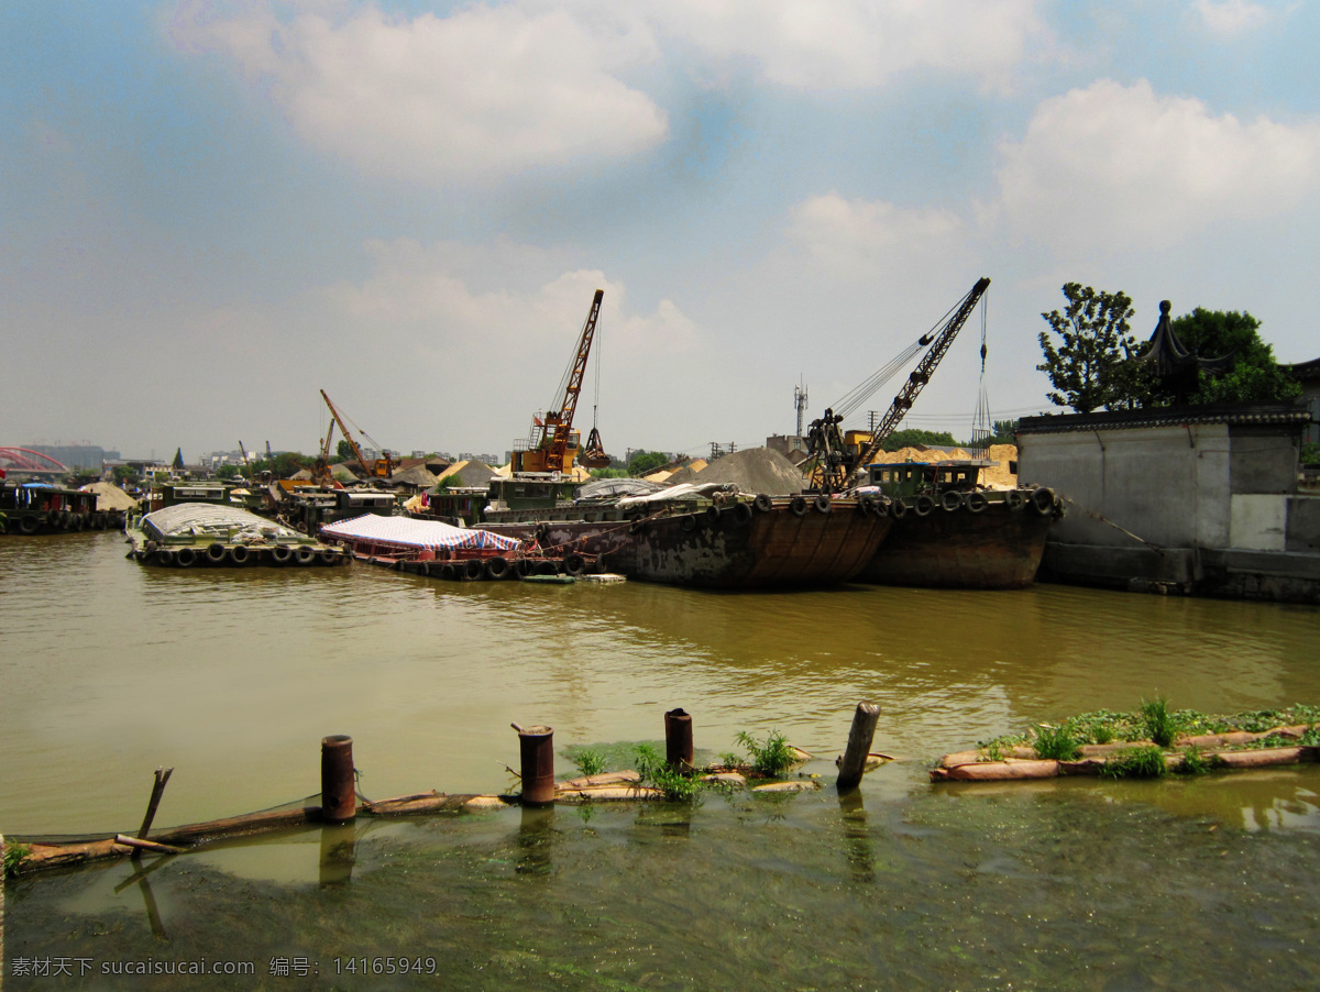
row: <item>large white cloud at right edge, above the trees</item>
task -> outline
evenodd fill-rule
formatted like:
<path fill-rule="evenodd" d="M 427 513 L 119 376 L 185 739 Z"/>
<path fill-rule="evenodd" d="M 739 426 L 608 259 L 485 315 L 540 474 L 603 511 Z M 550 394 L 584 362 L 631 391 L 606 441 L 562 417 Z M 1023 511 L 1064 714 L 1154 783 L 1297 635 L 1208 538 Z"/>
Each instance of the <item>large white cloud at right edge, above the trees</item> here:
<path fill-rule="evenodd" d="M 997 204 L 1056 248 L 1160 248 L 1287 211 L 1320 185 L 1320 123 L 1243 124 L 1150 83 L 1102 79 L 1041 103 L 1003 141 Z"/>

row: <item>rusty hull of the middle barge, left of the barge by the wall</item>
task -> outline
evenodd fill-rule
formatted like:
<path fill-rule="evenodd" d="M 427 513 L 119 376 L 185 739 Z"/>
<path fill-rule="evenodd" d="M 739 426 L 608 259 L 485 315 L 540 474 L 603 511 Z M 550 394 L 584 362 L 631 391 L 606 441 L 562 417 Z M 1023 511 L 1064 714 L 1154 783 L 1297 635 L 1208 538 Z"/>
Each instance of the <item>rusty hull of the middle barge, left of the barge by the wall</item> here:
<path fill-rule="evenodd" d="M 636 521 L 602 565 L 630 579 L 701 588 L 832 586 L 875 557 L 891 522 L 858 500 L 743 503 Z"/>

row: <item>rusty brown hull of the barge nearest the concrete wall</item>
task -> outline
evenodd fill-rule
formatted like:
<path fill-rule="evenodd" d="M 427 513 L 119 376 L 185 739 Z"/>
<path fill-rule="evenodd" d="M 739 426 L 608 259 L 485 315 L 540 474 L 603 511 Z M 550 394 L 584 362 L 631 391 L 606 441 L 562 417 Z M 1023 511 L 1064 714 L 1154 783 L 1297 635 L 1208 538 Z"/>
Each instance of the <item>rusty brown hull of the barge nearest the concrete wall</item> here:
<path fill-rule="evenodd" d="M 1020 590 L 1031 586 L 1053 517 L 990 503 L 972 513 L 908 511 L 858 573 L 857 582 L 927 588 Z"/>

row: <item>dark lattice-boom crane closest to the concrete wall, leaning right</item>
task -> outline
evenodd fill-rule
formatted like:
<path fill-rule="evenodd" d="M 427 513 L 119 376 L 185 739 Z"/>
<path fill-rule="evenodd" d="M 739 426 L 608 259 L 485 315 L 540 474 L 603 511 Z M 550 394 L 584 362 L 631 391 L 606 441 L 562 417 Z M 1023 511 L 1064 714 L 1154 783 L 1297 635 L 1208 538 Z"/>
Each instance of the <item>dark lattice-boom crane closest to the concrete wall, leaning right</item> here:
<path fill-rule="evenodd" d="M 917 394 L 931 381 L 931 376 L 935 373 L 940 360 L 949 350 L 949 346 L 953 344 L 953 339 L 958 336 L 962 325 L 966 323 L 968 317 L 970 317 L 989 286 L 989 278 L 981 277 L 977 280 L 977 284 L 953 307 L 949 318 L 933 338 L 929 334 L 921 338 L 921 343 L 929 343 L 931 347 L 921 356 L 921 360 L 912 369 L 911 375 L 908 375 L 907 381 L 894 398 L 890 409 L 873 429 L 871 439 L 857 456 L 847 452 L 840 434 L 838 425 L 843 421 L 842 414 L 825 410 L 825 416 L 812 423 L 809 446 L 817 458 L 816 468 L 812 472 L 812 488 L 814 491 L 836 493 L 857 484 L 858 478 L 866 471 L 866 466 L 870 464 L 871 459 L 875 458 L 884 439 L 894 433 L 894 429 L 898 427 L 908 410 L 912 409 Z"/>

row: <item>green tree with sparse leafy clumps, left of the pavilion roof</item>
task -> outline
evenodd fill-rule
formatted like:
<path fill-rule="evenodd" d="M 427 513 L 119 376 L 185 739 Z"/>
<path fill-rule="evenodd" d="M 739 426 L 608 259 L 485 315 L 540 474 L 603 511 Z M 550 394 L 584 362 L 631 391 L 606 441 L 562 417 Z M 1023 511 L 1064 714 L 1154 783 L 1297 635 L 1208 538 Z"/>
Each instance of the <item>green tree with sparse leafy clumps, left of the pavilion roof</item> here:
<path fill-rule="evenodd" d="M 1105 293 L 1080 282 L 1067 282 L 1063 290 L 1068 299 L 1063 313 L 1040 314 L 1049 330 L 1040 332 L 1045 360 L 1036 368 L 1057 390 L 1049 401 L 1077 413 L 1139 406 L 1148 373 L 1129 360 L 1138 347 L 1127 323 L 1135 313 L 1133 301 L 1122 292 Z"/>

